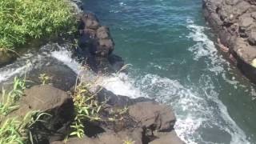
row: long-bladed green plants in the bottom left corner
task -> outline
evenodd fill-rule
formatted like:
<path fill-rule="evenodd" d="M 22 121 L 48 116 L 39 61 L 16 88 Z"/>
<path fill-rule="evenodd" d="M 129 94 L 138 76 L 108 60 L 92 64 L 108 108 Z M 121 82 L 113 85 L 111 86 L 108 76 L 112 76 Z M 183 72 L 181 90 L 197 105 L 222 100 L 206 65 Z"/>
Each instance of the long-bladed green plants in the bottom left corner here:
<path fill-rule="evenodd" d="M 0 98 L 0 144 L 33 143 L 32 131 L 44 113 L 30 111 L 22 118 L 9 117 L 9 114 L 18 109 L 17 102 L 26 89 L 26 76 L 22 79 L 14 78 L 13 89 L 6 94 L 2 89 Z"/>

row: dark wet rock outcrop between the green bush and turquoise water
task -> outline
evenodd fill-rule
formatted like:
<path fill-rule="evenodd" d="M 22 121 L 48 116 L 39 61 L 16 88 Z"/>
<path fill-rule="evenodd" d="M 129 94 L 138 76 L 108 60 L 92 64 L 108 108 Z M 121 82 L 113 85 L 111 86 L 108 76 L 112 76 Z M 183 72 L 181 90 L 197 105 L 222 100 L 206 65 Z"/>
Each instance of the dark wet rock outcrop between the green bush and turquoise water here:
<path fill-rule="evenodd" d="M 107 26 L 101 26 L 98 18 L 91 12 L 80 14 L 78 48 L 74 51 L 97 73 L 112 73 L 124 66 L 121 57 L 112 54 L 114 41 Z"/>

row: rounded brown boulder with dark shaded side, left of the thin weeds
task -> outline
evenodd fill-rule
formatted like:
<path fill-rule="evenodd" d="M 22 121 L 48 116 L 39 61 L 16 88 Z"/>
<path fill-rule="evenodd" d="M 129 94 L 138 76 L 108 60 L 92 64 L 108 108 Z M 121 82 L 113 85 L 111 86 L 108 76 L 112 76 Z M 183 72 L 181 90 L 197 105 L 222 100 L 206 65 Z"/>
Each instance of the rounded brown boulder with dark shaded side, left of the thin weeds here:
<path fill-rule="evenodd" d="M 34 132 L 40 141 L 55 141 L 65 138 L 68 124 L 74 118 L 74 105 L 66 92 L 53 86 L 33 86 L 25 90 L 25 96 L 19 102 L 20 108 L 14 116 L 25 116 L 28 112 L 40 110 L 50 114 Z"/>

